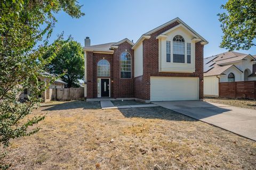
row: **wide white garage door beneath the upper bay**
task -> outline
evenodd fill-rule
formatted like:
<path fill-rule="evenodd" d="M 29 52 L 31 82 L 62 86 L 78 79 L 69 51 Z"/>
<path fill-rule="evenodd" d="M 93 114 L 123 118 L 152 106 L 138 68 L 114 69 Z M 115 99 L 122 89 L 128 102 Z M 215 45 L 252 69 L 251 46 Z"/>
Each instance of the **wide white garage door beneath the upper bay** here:
<path fill-rule="evenodd" d="M 199 78 L 150 77 L 151 101 L 198 99 Z"/>

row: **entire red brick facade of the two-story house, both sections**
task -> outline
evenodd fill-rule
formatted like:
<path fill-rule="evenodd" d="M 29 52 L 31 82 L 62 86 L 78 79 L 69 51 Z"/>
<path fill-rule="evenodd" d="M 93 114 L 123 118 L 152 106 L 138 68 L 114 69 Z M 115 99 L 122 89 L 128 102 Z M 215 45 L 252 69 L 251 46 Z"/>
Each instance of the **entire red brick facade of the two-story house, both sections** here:
<path fill-rule="evenodd" d="M 164 73 L 158 69 L 158 39 L 161 33 L 175 27 L 175 21 L 166 27 L 151 33 L 149 39 L 143 40 L 143 75 L 134 78 L 134 50 L 126 41 L 114 49 L 114 54 L 98 54 L 87 52 L 87 98 L 97 98 L 97 63 L 105 57 L 110 63 L 110 97 L 139 98 L 150 100 L 150 77 L 198 77 L 199 99 L 203 98 L 203 52 L 204 45 L 200 42 L 195 45 L 195 72 L 194 73 Z M 121 79 L 120 55 L 129 52 L 132 56 L 132 78 Z"/>

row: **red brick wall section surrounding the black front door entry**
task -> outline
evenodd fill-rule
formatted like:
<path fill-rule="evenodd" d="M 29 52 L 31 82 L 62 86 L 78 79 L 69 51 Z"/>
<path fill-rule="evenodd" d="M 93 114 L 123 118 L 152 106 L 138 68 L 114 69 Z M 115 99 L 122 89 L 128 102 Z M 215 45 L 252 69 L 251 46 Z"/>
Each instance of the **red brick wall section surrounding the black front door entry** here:
<path fill-rule="evenodd" d="M 129 52 L 132 56 L 132 78 L 121 79 L 120 55 L 122 52 Z M 134 50 L 132 46 L 124 42 L 114 49 L 114 54 L 98 54 L 87 52 L 87 98 L 98 97 L 98 61 L 105 57 L 110 63 L 110 97 L 129 98 L 134 97 Z M 113 82 L 112 82 L 113 81 Z"/>

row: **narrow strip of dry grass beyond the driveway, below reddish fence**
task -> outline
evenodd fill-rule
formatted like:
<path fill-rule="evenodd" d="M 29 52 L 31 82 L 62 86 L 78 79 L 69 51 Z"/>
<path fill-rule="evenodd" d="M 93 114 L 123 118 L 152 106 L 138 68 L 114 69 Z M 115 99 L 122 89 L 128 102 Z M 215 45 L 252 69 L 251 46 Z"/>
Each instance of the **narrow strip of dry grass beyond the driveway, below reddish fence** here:
<path fill-rule="evenodd" d="M 204 98 L 204 101 L 213 102 L 213 103 L 220 103 L 220 104 L 225 104 L 225 105 L 230 105 L 230 106 L 256 109 L 256 101 L 255 100 L 207 97 L 207 98 Z"/>

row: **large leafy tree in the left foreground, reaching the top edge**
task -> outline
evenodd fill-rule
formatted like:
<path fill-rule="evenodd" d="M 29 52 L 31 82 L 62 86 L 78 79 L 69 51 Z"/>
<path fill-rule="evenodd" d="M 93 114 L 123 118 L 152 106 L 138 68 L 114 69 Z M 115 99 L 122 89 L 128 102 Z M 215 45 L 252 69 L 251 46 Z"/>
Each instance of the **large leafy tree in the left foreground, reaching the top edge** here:
<path fill-rule="evenodd" d="M 79 18 L 84 13 L 76 0 L 2 0 L 0 7 L 0 146 L 8 146 L 10 139 L 37 132 L 38 128 L 28 131 L 28 127 L 44 118 L 24 119 L 38 107 L 37 96 L 48 85 L 38 77 L 55 56 L 43 59 L 57 22 L 54 14 L 62 10 Z M 25 89 L 31 94 L 20 102 Z"/>

